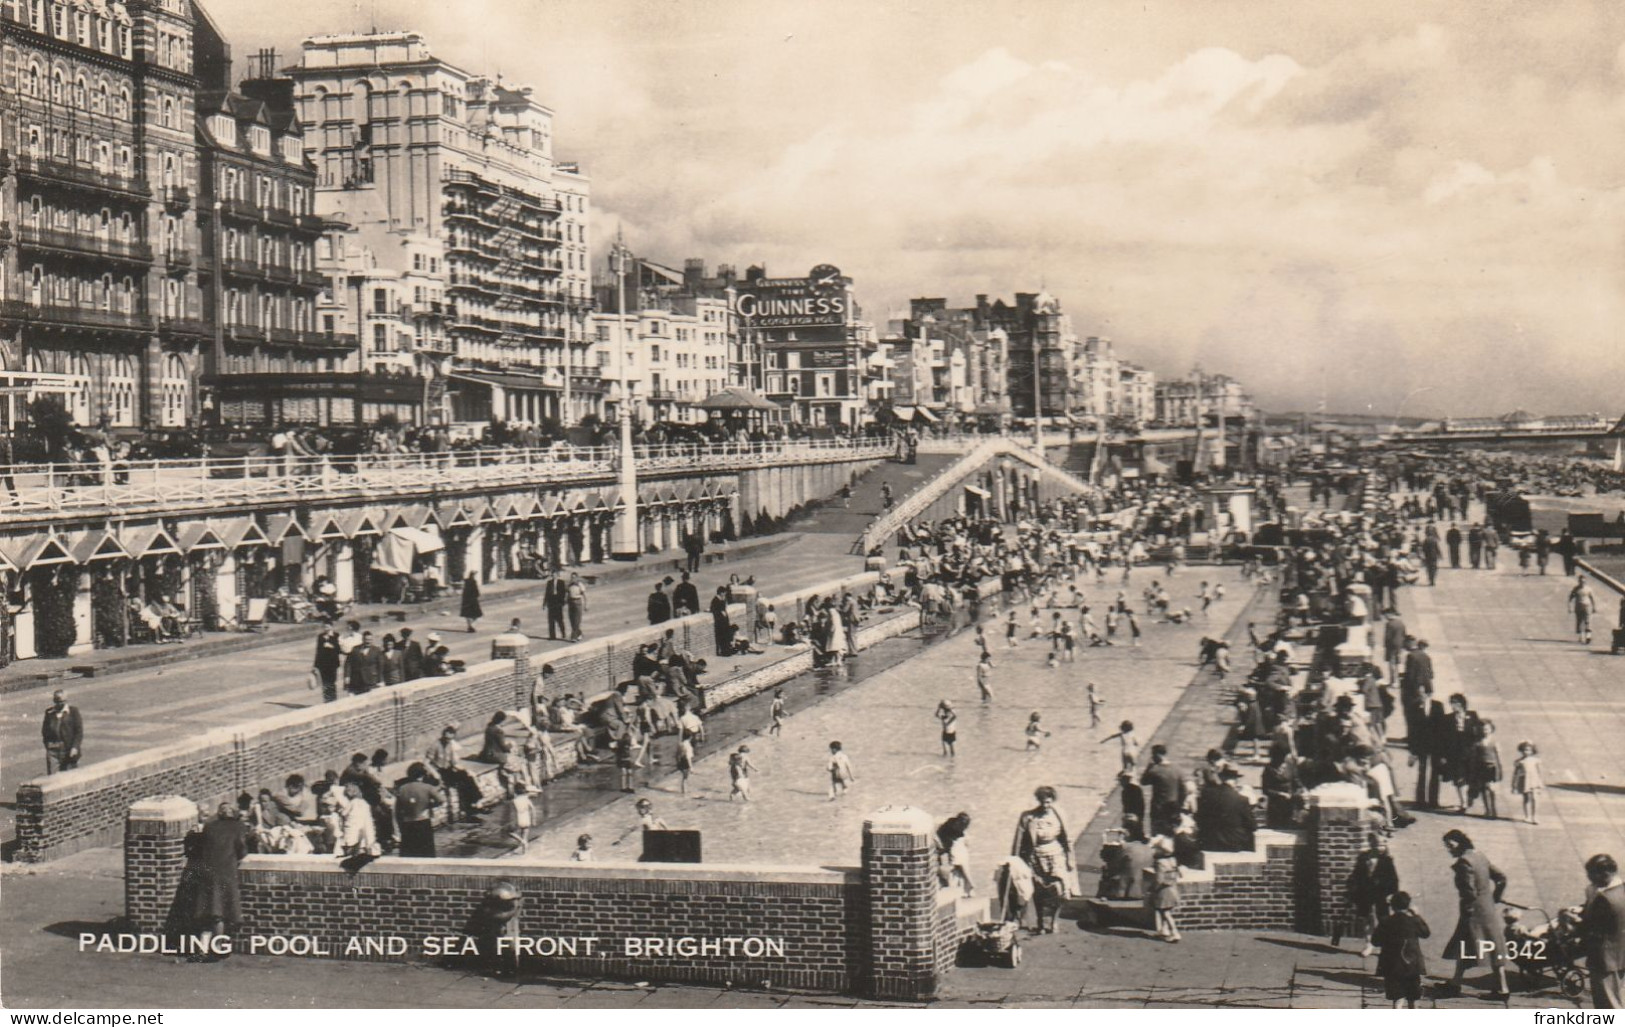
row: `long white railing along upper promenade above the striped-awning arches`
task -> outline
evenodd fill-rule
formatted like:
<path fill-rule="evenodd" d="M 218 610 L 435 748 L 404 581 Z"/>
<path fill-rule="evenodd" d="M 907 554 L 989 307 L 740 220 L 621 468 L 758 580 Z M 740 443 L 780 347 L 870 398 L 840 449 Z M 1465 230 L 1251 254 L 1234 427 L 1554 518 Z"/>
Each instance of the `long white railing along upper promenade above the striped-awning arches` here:
<path fill-rule="evenodd" d="M 886 439 L 809 439 L 640 445 L 640 473 L 715 473 L 785 463 L 879 458 Z M 354 457 L 239 457 L 231 460 L 138 460 L 112 465 L 0 466 L 0 512 L 55 514 L 177 512 L 232 505 L 367 499 L 395 494 L 535 488 L 611 479 L 614 447 L 476 448 L 448 453 Z"/>

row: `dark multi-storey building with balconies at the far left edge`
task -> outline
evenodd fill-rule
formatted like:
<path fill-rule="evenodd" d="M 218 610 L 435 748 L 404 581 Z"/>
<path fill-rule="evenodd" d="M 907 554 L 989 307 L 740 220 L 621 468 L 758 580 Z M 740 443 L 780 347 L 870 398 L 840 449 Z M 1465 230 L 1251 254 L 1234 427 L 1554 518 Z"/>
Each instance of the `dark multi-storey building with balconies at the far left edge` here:
<path fill-rule="evenodd" d="M 188 0 L 0 0 L 0 372 L 80 424 L 197 416 Z M 161 320 L 162 318 L 162 320 Z"/>

